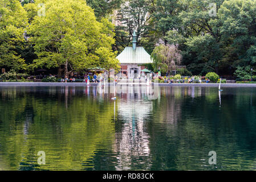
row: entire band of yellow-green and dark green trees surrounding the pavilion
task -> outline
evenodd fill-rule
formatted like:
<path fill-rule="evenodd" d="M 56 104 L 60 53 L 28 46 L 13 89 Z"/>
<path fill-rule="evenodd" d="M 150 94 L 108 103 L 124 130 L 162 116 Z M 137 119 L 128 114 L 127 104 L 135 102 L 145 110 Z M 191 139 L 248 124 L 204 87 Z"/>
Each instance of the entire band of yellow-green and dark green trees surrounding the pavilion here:
<path fill-rule="evenodd" d="M 45 16 L 38 13 L 41 3 Z M 175 63 L 186 65 L 192 75 L 216 72 L 248 79 L 249 72 L 239 72 L 256 69 L 255 12 L 254 0 L 2 0 L 0 67 L 64 66 L 66 74 L 119 68 L 115 51 L 131 46 L 135 30 L 138 46 L 153 53 L 154 71 L 169 72 Z M 173 59 L 157 55 L 160 40 L 161 50 L 175 49 L 168 55 Z"/>

